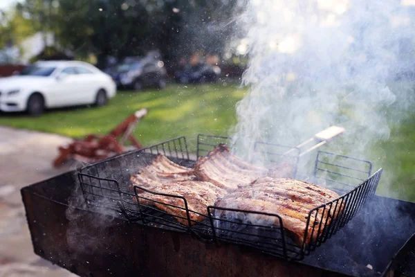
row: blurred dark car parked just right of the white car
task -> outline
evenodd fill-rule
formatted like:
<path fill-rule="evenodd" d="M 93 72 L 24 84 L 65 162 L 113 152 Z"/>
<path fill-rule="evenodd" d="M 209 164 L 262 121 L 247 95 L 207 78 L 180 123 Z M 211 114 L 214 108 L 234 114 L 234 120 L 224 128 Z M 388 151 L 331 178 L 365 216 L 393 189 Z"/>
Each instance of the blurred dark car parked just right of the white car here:
<path fill-rule="evenodd" d="M 118 64 L 109 74 L 120 89 L 140 90 L 143 87 L 166 86 L 167 73 L 160 60 L 136 60 Z"/>

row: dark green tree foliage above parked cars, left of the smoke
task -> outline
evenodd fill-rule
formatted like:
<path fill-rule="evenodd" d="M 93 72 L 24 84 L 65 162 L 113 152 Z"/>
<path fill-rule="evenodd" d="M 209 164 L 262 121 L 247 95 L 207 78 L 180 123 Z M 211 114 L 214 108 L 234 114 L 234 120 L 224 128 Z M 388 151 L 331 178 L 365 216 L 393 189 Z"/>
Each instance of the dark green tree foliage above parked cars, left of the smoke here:
<path fill-rule="evenodd" d="M 155 48 L 163 53 L 168 65 L 196 51 L 221 54 L 233 30 L 234 3 L 25 0 L 17 4 L 19 17 L 15 20 L 24 20 L 22 28 L 30 26 L 30 33 L 52 31 L 59 46 L 82 59 L 95 55 L 98 66 L 105 66 L 109 55 L 118 58 L 142 55 Z M 16 34 L 13 28 L 6 30 Z"/>

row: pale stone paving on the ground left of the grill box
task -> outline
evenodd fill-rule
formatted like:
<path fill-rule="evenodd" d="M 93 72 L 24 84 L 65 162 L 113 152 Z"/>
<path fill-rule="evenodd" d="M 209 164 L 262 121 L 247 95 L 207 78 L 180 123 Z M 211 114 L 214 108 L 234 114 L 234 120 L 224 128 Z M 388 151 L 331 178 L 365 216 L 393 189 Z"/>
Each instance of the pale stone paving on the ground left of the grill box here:
<path fill-rule="evenodd" d="M 59 175 L 53 168 L 64 136 L 0 126 L 0 277 L 75 276 L 33 253 L 20 188 Z"/>

